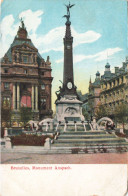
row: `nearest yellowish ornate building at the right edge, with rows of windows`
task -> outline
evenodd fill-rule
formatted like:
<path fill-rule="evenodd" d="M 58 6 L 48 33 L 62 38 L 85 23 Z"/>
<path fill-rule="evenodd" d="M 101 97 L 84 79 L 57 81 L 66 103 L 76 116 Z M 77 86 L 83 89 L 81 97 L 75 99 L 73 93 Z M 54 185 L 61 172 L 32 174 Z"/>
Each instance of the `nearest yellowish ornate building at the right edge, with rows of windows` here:
<path fill-rule="evenodd" d="M 128 104 L 128 59 L 121 68 L 115 67 L 115 73 L 108 80 L 101 80 L 101 104 L 104 105 L 111 117 L 115 107 L 120 103 Z"/>

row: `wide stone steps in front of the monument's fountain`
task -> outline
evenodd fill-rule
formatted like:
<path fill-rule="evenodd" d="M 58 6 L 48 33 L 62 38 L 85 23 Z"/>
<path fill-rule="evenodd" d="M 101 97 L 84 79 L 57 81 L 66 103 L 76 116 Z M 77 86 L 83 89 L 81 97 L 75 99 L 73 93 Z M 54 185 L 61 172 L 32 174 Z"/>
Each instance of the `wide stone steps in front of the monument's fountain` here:
<path fill-rule="evenodd" d="M 60 135 L 54 143 L 52 148 L 73 148 L 73 147 L 95 147 L 99 145 L 105 145 L 107 148 L 112 146 L 116 148 L 117 146 L 125 145 L 128 146 L 128 143 L 124 138 L 116 137 L 113 133 L 108 134 L 105 131 L 80 131 L 80 132 L 60 132 Z"/>

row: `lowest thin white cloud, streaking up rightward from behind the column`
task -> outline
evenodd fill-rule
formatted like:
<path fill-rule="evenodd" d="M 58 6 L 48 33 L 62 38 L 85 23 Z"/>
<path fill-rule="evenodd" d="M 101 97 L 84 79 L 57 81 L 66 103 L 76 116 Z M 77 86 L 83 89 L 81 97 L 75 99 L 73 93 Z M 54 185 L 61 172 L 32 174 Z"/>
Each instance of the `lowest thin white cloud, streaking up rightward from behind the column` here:
<path fill-rule="evenodd" d="M 122 48 L 116 47 L 116 48 L 108 48 L 94 55 L 74 55 L 73 62 L 78 63 L 85 59 L 94 59 L 95 61 L 103 61 L 112 58 L 114 54 L 120 52 L 121 50 Z M 63 62 L 63 58 L 56 60 L 56 63 L 62 63 L 62 62 Z"/>

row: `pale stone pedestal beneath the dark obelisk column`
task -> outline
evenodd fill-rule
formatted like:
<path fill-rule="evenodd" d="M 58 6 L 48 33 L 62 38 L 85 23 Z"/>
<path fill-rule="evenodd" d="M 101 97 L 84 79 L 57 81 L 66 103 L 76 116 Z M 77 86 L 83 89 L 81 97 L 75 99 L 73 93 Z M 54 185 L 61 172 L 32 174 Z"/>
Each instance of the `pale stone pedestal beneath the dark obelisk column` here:
<path fill-rule="evenodd" d="M 66 121 L 84 121 L 82 102 L 76 96 L 64 95 L 60 100 L 56 101 L 55 120 L 64 123 Z"/>

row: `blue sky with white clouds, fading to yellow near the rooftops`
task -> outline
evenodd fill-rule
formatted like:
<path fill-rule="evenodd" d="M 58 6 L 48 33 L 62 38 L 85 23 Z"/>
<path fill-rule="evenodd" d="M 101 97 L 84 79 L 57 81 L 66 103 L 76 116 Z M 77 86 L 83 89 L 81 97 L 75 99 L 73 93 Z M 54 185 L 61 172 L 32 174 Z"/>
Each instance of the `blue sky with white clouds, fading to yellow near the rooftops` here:
<path fill-rule="evenodd" d="M 22 17 L 29 38 L 52 65 L 52 106 L 55 91 L 63 80 L 63 37 L 65 34 L 65 4 L 67 0 L 3 0 L 1 3 L 0 57 L 10 47 Z M 82 93 L 88 92 L 90 76 L 97 70 L 104 73 L 107 61 L 114 72 L 122 66 L 127 55 L 126 0 L 72 0 L 71 29 L 75 85 Z"/>

